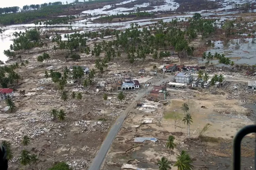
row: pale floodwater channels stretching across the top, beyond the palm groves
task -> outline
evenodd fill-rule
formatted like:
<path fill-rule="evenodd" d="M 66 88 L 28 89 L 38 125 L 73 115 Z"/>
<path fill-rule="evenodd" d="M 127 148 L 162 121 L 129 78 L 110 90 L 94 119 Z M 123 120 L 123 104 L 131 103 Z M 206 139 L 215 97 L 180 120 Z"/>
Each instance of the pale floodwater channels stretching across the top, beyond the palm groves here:
<path fill-rule="evenodd" d="M 128 0 L 128 1 L 124 1 L 124 2 L 119 3 L 119 4 L 125 4 L 125 3 L 132 2 L 132 1 L 135 1 L 135 0 Z M 176 2 L 173 2 L 173 1 L 174 0 L 166 0 L 166 2 L 167 2 L 166 5 L 155 6 L 155 8 L 153 10 L 150 10 L 150 11 L 147 11 L 147 12 L 169 11 L 169 10 L 175 11 L 179 7 L 179 4 L 176 3 Z M 219 22 L 221 22 L 221 21 L 224 21 L 226 19 L 233 19 L 233 17 L 229 17 L 229 18 L 228 17 L 222 17 L 221 15 L 231 14 L 231 13 L 236 13 L 236 12 L 216 13 L 217 11 L 231 9 L 232 5 L 230 5 L 230 4 L 232 4 L 232 3 L 233 4 L 234 3 L 242 4 L 242 3 L 245 3 L 245 2 L 248 2 L 248 0 L 234 0 L 234 1 L 224 0 L 224 2 L 222 3 L 224 7 L 216 9 L 216 10 L 208 10 L 207 13 L 206 13 L 205 10 L 198 11 L 198 13 L 201 13 L 201 15 L 203 17 L 206 17 L 206 18 L 209 15 L 216 15 L 217 14 L 218 17 L 216 17 L 216 19 L 220 19 Z M 117 5 L 119 5 L 119 4 L 117 4 Z M 114 10 L 103 11 L 103 10 L 106 10 L 106 9 L 111 7 L 110 5 L 106 5 L 103 8 L 100 8 L 100 9 L 84 11 L 84 12 L 82 12 L 82 15 L 85 15 L 85 14 L 115 15 L 115 14 L 124 13 L 123 11 L 136 10 L 137 7 L 145 7 L 145 6 L 148 6 L 148 5 L 149 5 L 148 3 L 144 3 L 144 4 L 141 4 L 141 5 L 136 5 L 132 8 L 116 8 Z M 137 23 L 137 24 L 139 24 L 140 26 L 143 27 L 143 26 L 148 25 L 148 24 L 154 24 L 159 19 L 162 19 L 164 22 L 169 22 L 172 19 L 176 19 L 176 18 L 180 19 L 180 20 L 185 20 L 188 17 L 192 17 L 194 13 L 195 12 L 188 12 L 188 13 L 186 13 L 186 15 L 180 15 L 180 16 L 161 17 L 161 18 L 154 18 L 154 19 L 141 19 L 141 20 L 132 20 L 132 21 L 116 22 L 116 23 L 93 23 L 93 22 L 90 22 L 89 19 L 84 19 L 84 20 L 73 22 L 71 24 L 71 26 L 72 26 L 73 29 L 76 29 L 76 30 L 77 29 L 82 29 L 83 30 L 82 32 L 95 31 L 95 30 L 109 28 L 109 27 L 116 28 L 116 29 L 120 30 L 120 29 L 129 28 L 131 23 Z M 126 14 L 126 13 L 124 13 L 124 14 Z M 99 18 L 99 17 L 93 17 L 93 18 L 90 18 L 90 19 L 94 20 L 96 18 Z M 12 44 L 12 41 L 11 41 L 11 39 L 13 38 L 12 34 L 15 31 L 19 32 L 19 31 L 24 31 L 25 29 L 35 28 L 35 27 L 41 27 L 42 30 L 68 30 L 68 26 L 70 26 L 70 24 L 56 24 L 56 25 L 53 25 L 53 26 L 47 26 L 46 27 L 43 24 L 41 26 L 39 26 L 39 25 L 36 26 L 35 24 L 31 23 L 31 24 L 17 24 L 17 25 L 11 25 L 11 26 L 3 27 L 3 29 L 5 29 L 6 31 L 2 35 L 0 35 L 0 38 L 1 38 L 1 40 L 0 40 L 0 60 L 2 60 L 2 61 L 7 60 L 7 57 L 1 51 L 9 49 L 10 45 Z"/>

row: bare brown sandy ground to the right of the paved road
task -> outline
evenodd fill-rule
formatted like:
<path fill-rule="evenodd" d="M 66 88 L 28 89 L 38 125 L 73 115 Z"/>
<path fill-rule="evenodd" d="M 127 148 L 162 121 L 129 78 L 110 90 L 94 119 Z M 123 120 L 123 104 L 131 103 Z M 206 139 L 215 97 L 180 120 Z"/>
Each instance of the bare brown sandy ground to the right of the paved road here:
<path fill-rule="evenodd" d="M 113 142 L 102 170 L 117 170 L 128 166 L 126 164 L 134 168 L 157 170 L 157 161 L 162 156 L 174 163 L 181 150 L 187 150 L 191 155 L 195 169 L 226 169 L 225 166 L 231 169 L 232 138 L 241 127 L 253 124 L 245 116 L 247 109 L 242 106 L 243 103 L 227 100 L 226 95 L 212 95 L 196 90 L 187 95 L 179 90 L 170 91 L 169 94 L 168 104 L 144 99 L 142 102 L 147 107 L 137 107 L 130 112 Z M 182 122 L 184 113 L 181 106 L 185 102 L 189 103 L 193 118 L 190 125 L 191 140 L 187 139 L 187 126 Z M 143 123 L 144 120 L 152 120 L 152 123 Z M 199 133 L 207 123 L 211 124 L 210 128 L 199 139 Z M 171 154 L 165 147 L 169 135 L 175 136 L 176 143 Z M 136 137 L 157 138 L 158 141 L 136 143 L 133 141 Z M 250 145 L 243 146 L 242 160 L 246 157 L 253 160 L 253 150 L 250 150 L 253 140 L 245 140 Z M 243 166 L 249 168 L 252 165 L 253 162 L 248 161 Z M 176 170 L 177 167 L 172 166 L 172 169 Z"/>

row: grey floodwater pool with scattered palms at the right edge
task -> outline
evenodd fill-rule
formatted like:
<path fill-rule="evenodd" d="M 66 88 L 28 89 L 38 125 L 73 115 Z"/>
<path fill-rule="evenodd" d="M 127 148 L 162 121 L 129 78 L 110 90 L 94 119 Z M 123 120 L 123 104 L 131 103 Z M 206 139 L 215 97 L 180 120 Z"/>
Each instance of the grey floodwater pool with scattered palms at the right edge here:
<path fill-rule="evenodd" d="M 256 39 L 253 38 L 241 38 L 231 39 L 229 41 L 212 41 L 211 45 L 213 49 L 208 50 L 214 54 L 215 52 L 225 54 L 226 57 L 230 57 L 230 60 L 236 64 L 248 64 L 256 65 Z M 199 63 L 205 63 L 205 61 L 199 61 Z M 212 60 L 210 63 L 218 63 L 218 60 Z M 224 66 L 219 64 L 217 66 Z"/>

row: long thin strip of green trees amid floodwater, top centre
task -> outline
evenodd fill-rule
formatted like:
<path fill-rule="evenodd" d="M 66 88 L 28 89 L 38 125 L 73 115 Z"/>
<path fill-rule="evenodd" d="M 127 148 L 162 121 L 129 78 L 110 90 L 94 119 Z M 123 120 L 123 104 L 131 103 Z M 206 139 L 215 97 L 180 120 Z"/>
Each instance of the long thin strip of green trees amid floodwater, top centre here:
<path fill-rule="evenodd" d="M 154 17 L 154 13 L 149 12 L 137 12 L 137 13 L 129 13 L 129 14 L 116 14 L 116 15 L 109 15 L 109 16 L 103 16 L 100 17 L 100 21 L 108 20 L 111 21 L 113 18 L 141 18 L 141 17 Z"/>

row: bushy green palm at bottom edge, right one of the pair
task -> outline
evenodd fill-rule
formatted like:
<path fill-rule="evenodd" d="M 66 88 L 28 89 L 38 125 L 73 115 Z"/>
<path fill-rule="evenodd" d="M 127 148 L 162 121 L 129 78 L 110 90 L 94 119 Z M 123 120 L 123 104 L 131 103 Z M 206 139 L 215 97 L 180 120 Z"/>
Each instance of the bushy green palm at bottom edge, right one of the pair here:
<path fill-rule="evenodd" d="M 177 162 L 174 166 L 178 167 L 178 170 L 192 170 L 194 169 L 192 163 L 193 160 L 190 156 L 185 151 L 181 151 L 180 155 L 177 156 Z"/>

